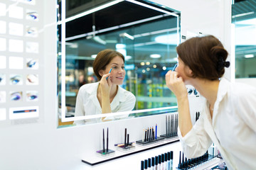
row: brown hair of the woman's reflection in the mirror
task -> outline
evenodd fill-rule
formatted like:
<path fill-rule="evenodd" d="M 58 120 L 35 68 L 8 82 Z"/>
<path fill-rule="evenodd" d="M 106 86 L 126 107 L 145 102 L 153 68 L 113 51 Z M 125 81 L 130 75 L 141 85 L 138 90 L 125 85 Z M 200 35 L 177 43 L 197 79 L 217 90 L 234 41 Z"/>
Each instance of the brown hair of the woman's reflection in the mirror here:
<path fill-rule="evenodd" d="M 111 60 L 117 56 L 122 57 L 122 60 L 124 60 L 124 55 L 122 55 L 120 52 L 111 49 L 102 50 L 97 54 L 97 57 L 95 58 L 92 64 L 92 67 L 93 72 L 97 76 L 98 80 L 102 78 L 102 76 L 100 76 L 99 74 L 100 70 L 105 70 L 107 64 L 109 64 Z"/>

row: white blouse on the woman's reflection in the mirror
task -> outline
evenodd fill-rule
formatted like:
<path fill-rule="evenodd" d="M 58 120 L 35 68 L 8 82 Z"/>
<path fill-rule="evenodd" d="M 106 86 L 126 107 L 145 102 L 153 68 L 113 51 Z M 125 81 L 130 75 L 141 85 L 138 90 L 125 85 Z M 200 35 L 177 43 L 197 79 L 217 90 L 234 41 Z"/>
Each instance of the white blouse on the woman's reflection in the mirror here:
<path fill-rule="evenodd" d="M 75 116 L 102 114 L 100 102 L 97 99 L 97 88 L 100 82 L 85 84 L 80 87 L 75 103 Z M 134 94 L 118 86 L 117 94 L 110 103 L 112 113 L 132 111 L 136 102 Z M 74 124 L 100 122 L 101 119 L 76 120 Z"/>

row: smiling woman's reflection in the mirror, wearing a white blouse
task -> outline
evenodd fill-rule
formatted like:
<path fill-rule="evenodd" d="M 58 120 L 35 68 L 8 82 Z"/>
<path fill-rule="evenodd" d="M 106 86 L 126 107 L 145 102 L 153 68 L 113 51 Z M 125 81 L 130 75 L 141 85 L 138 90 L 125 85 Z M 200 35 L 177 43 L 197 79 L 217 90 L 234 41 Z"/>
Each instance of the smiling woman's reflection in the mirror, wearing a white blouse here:
<path fill-rule="evenodd" d="M 102 50 L 93 62 L 93 71 L 99 81 L 80 87 L 75 104 L 75 116 L 132 111 L 135 96 L 119 86 L 123 84 L 125 77 L 124 56 L 114 50 Z M 101 120 L 106 119 L 97 121 Z M 89 121 L 92 120 L 79 120 L 75 121 L 75 124 Z"/>

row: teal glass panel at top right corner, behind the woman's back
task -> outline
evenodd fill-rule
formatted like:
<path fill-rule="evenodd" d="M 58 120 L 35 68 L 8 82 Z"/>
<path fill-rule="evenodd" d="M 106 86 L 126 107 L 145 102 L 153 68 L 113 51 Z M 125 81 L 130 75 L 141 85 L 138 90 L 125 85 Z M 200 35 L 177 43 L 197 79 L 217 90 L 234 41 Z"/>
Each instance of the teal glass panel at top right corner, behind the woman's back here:
<path fill-rule="evenodd" d="M 255 78 L 256 2 L 233 4 L 232 23 L 235 25 L 235 78 Z"/>

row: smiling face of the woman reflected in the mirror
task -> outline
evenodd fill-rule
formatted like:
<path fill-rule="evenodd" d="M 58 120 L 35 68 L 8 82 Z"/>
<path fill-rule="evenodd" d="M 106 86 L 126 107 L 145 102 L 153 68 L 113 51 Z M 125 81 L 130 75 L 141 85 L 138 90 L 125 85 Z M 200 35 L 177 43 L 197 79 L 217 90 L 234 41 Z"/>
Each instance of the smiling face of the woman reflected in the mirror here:
<path fill-rule="evenodd" d="M 122 60 L 122 57 L 114 57 L 110 63 L 107 64 L 104 74 L 109 73 L 110 69 L 112 69 L 110 74 L 112 84 L 122 85 L 125 77 L 124 61 Z"/>

